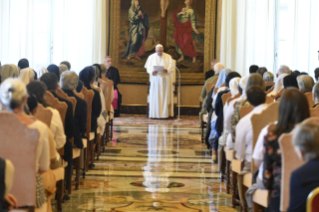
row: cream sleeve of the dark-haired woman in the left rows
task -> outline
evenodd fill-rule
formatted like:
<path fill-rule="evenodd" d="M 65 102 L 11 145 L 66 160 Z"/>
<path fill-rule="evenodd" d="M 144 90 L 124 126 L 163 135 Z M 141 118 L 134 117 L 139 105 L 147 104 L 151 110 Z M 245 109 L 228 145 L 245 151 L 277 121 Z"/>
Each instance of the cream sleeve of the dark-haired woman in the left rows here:
<path fill-rule="evenodd" d="M 55 142 L 56 142 L 56 148 L 61 149 L 65 142 L 66 142 L 66 136 L 64 134 L 64 128 L 63 128 L 63 123 L 61 120 L 61 116 L 59 112 L 55 109 L 52 110 L 53 115 L 52 115 L 52 121 L 50 125 L 50 129 L 52 131 Z M 52 128 L 55 128 L 55 131 L 52 130 Z"/>

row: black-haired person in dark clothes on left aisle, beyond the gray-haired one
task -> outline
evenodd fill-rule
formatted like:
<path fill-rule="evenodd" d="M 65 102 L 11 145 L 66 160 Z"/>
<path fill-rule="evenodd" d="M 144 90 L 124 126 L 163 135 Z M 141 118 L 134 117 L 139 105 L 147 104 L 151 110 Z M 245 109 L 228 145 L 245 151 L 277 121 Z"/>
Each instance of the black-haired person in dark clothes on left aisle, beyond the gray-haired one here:
<path fill-rule="evenodd" d="M 92 116 L 91 116 L 91 132 L 95 132 L 95 141 L 97 139 L 97 119 L 101 114 L 102 110 L 102 103 L 101 103 L 101 97 L 99 91 L 92 88 L 92 83 L 95 78 L 95 73 L 93 68 L 86 67 L 83 69 L 79 74 L 79 79 L 83 82 L 84 87 L 86 87 L 88 90 L 94 91 L 94 97 L 92 101 Z"/>

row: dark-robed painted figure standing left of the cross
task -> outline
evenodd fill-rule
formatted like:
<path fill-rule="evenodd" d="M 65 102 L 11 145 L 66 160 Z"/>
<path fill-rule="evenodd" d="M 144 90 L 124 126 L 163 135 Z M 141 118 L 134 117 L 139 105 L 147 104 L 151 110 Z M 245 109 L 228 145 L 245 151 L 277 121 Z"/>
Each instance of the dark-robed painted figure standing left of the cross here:
<path fill-rule="evenodd" d="M 140 56 L 145 52 L 145 40 L 149 31 L 148 15 L 142 10 L 139 0 L 132 0 L 128 16 L 130 40 L 122 59 L 134 57 L 141 60 Z"/>

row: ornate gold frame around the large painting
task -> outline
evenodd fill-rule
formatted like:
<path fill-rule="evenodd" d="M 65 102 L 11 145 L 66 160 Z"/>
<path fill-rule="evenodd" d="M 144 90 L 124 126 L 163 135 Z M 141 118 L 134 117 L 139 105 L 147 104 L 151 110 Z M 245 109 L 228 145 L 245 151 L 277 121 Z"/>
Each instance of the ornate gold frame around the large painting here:
<path fill-rule="evenodd" d="M 128 0 L 131 1 L 131 0 Z M 152 0 L 155 1 L 155 0 Z M 159 0 L 157 0 L 159 1 Z M 216 26 L 216 4 L 217 0 L 205 1 L 205 41 L 204 41 L 204 68 L 202 73 L 182 73 L 181 82 L 187 85 L 198 85 L 205 82 L 205 72 L 210 70 L 210 61 L 215 58 L 215 26 Z M 121 0 L 111 1 L 111 20 L 110 20 L 110 44 L 109 54 L 112 57 L 113 66 L 119 65 L 119 35 L 121 26 Z M 144 67 L 141 69 L 145 70 Z M 149 82 L 148 73 L 120 71 L 121 82 L 132 84 L 144 84 Z M 178 76 L 177 76 L 178 77 Z"/>

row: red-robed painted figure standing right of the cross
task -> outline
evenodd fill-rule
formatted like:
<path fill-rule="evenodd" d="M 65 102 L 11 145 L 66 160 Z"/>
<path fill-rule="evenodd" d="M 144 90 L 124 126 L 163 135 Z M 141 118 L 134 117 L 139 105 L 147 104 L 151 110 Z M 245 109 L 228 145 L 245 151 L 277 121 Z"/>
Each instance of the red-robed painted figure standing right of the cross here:
<path fill-rule="evenodd" d="M 193 63 L 196 62 L 196 50 L 193 40 L 192 31 L 199 34 L 196 29 L 196 15 L 192 8 L 193 0 L 185 0 L 185 5 L 174 12 L 173 22 L 175 25 L 175 43 L 176 51 L 181 57 L 178 62 L 185 60 L 184 56 L 193 58 Z"/>

